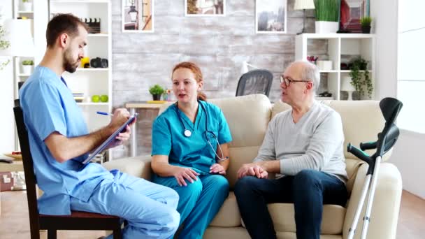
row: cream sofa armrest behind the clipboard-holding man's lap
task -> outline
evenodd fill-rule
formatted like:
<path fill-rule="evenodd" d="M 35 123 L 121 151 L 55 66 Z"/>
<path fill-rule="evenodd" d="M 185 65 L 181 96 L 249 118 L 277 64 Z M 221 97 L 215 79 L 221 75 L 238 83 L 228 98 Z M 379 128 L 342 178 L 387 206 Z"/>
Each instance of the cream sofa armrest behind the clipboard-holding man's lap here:
<path fill-rule="evenodd" d="M 152 174 L 152 168 L 150 167 L 151 160 L 152 157 L 149 155 L 115 159 L 104 163 L 103 167 L 108 169 L 108 171 L 118 169 L 123 173 L 127 173 L 138 178 L 144 178 L 145 180 L 150 180 Z"/>

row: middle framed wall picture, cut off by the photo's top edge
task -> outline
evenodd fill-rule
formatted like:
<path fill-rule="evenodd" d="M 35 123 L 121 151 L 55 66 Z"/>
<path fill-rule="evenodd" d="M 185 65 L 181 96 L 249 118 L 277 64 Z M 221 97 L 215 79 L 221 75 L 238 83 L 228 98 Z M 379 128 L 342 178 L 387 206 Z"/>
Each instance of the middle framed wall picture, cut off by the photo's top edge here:
<path fill-rule="evenodd" d="M 187 17 L 222 17 L 226 13 L 226 0 L 185 0 Z"/>

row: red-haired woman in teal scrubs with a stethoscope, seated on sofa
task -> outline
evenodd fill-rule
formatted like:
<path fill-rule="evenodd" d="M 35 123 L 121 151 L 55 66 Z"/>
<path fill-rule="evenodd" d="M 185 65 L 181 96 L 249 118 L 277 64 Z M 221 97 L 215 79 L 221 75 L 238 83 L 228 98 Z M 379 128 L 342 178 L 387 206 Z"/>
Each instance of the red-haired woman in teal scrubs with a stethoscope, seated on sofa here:
<path fill-rule="evenodd" d="M 217 106 L 201 92 L 201 70 L 192 62 L 173 68 L 177 102 L 152 126 L 153 182 L 178 192 L 179 238 L 202 238 L 229 194 L 224 178 L 231 134 Z"/>

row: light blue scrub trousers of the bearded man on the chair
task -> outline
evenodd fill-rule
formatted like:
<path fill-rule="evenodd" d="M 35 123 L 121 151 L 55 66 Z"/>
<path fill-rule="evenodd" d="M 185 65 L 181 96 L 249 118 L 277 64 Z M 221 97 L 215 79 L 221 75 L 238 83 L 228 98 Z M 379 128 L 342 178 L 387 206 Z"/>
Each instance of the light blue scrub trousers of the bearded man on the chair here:
<path fill-rule="evenodd" d="M 173 238 L 180 222 L 177 204 L 178 194 L 173 189 L 120 172 L 113 180 L 103 180 L 87 202 L 71 197 L 71 210 L 127 220 L 124 239 Z"/>

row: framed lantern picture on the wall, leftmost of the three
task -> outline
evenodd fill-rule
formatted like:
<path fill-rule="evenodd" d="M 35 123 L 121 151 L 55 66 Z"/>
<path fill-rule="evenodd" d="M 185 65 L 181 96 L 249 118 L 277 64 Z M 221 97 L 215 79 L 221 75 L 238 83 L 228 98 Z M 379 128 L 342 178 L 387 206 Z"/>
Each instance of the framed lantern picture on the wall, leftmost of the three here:
<path fill-rule="evenodd" d="M 122 0 L 123 32 L 154 32 L 154 0 Z"/>

